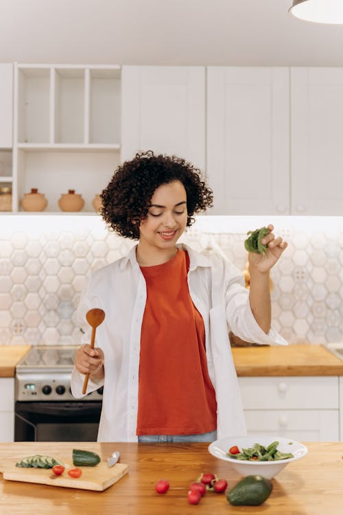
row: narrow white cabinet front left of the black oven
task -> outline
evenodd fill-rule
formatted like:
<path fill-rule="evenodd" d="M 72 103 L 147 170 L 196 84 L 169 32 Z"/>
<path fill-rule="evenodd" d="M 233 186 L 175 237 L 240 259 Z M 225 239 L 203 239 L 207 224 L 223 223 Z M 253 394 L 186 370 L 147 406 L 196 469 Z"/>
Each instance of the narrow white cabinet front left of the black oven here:
<path fill-rule="evenodd" d="M 14 441 L 14 378 L 0 378 L 0 442 Z"/>

